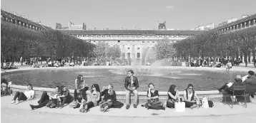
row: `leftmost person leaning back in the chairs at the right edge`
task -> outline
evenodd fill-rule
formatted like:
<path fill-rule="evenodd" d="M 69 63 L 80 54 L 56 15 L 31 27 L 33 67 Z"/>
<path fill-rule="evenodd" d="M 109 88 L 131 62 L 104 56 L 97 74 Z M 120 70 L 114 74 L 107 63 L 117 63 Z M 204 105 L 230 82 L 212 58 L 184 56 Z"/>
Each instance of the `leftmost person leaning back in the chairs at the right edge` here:
<path fill-rule="evenodd" d="M 225 85 L 220 87 L 219 92 L 225 90 L 225 92 L 227 92 L 229 95 L 233 95 L 234 85 L 245 85 L 245 83 L 242 82 L 242 77 L 240 75 L 235 77 L 235 82 L 225 83 Z"/>

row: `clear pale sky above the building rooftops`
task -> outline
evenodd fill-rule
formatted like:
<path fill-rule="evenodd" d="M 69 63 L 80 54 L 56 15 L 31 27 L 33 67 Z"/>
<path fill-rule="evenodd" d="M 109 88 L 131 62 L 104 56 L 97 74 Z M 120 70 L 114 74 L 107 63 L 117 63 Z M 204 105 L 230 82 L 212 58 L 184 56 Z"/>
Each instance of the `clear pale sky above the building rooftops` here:
<path fill-rule="evenodd" d="M 207 23 L 256 14 L 256 0 L 1 0 L 1 9 L 55 28 L 86 23 L 87 28 L 189 30 Z"/>

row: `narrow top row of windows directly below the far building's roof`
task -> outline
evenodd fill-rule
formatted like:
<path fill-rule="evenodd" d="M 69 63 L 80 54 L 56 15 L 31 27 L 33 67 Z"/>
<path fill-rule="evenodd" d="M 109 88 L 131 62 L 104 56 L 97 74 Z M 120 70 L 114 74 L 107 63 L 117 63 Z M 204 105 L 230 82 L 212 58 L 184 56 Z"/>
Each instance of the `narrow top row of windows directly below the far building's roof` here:
<path fill-rule="evenodd" d="M 75 37 L 88 37 L 88 38 L 189 38 L 191 36 L 172 36 L 172 35 L 154 35 L 154 36 L 142 36 L 142 35 L 72 35 Z"/>

